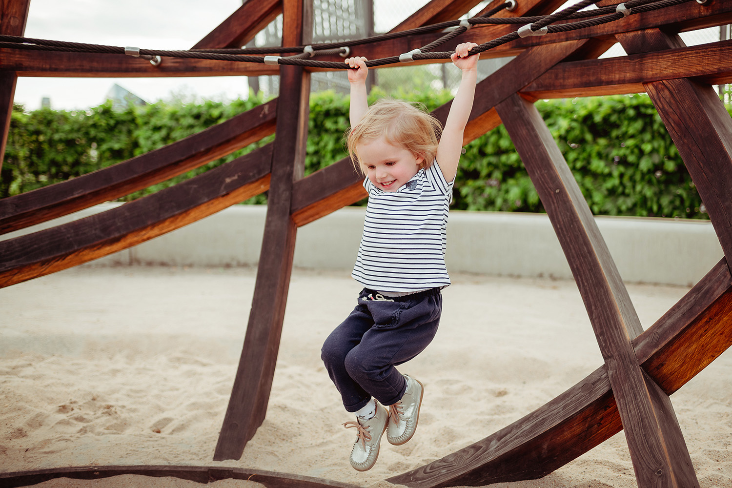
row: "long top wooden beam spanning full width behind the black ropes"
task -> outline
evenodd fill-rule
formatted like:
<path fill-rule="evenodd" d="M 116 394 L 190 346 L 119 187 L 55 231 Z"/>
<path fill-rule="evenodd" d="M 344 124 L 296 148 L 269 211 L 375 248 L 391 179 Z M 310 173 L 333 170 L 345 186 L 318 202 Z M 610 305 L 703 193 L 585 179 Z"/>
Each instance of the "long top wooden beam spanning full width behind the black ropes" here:
<path fill-rule="evenodd" d="M 519 5 L 526 2 L 520 1 Z M 512 15 L 521 15 L 521 7 Z M 506 45 L 482 53 L 482 58 L 516 56 L 536 45 L 567 42 L 569 40 L 596 39 L 601 43 L 614 42 L 615 34 L 662 27 L 664 31 L 687 31 L 702 27 L 732 23 L 732 4 L 728 1 L 714 1 L 699 5 L 687 2 L 667 9 L 630 15 L 630 17 L 601 26 L 579 29 L 546 36 L 531 36 L 509 42 Z M 440 49 L 450 50 L 458 42 L 487 42 L 509 32 L 514 25 L 474 26 L 455 40 L 447 42 Z M 378 59 L 406 53 L 426 45 L 439 37 L 439 33 L 421 34 L 414 37 L 375 42 L 355 46 L 351 52 L 356 56 Z M 323 61 L 343 61 L 339 56 L 323 56 Z M 447 62 L 447 60 L 445 60 Z M 130 56 L 94 53 L 56 53 L 0 48 L 0 70 L 13 70 L 19 76 L 63 76 L 63 77 L 171 77 L 171 76 L 226 76 L 226 75 L 276 75 L 277 67 L 265 64 L 239 63 L 234 61 L 209 61 L 202 59 L 165 58 L 163 64 L 152 66 L 143 59 Z M 320 71 L 308 68 L 308 71 Z"/>

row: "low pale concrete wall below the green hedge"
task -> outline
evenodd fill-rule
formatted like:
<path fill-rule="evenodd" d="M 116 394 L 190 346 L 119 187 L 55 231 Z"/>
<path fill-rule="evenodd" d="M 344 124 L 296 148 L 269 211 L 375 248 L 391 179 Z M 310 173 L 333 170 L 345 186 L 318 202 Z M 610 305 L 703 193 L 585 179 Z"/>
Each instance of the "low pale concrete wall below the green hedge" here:
<path fill-rule="evenodd" d="M 117 205 L 105 203 L 0 236 L 0 240 Z M 350 272 L 364 213 L 363 208 L 347 207 L 300 228 L 295 266 Z M 86 266 L 254 266 L 259 259 L 265 214 L 266 206 L 232 206 Z M 693 285 L 723 256 L 710 222 L 641 217 L 596 220 L 626 282 Z M 545 214 L 450 211 L 446 259 L 452 273 L 572 278 Z"/>

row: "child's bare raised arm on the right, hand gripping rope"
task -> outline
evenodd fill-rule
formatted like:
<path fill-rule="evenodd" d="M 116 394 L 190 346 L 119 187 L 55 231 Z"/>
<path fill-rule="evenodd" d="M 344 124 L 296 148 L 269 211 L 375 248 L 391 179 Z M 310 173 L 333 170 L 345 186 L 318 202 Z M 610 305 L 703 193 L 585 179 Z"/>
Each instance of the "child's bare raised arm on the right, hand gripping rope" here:
<path fill-rule="evenodd" d="M 463 71 L 458 93 L 452 100 L 445 127 L 442 130 L 440 144 L 437 147 L 437 162 L 447 181 L 455 179 L 458 173 L 460 151 L 463 149 L 463 132 L 468 124 L 470 111 L 473 109 L 475 83 L 477 81 L 478 54 L 470 55 L 469 50 L 476 47 L 474 42 L 465 42 L 455 48 L 452 62 Z"/>

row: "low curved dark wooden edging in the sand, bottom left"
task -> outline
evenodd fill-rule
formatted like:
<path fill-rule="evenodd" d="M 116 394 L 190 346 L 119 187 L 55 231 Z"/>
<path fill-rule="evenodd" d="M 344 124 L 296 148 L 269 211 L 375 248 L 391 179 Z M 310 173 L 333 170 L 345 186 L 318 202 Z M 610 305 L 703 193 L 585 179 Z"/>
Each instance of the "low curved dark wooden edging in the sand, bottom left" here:
<path fill-rule="evenodd" d="M 220 479 L 242 479 L 256 481 L 267 488 L 356 488 L 355 485 L 340 483 L 311 476 L 300 476 L 275 471 L 250 470 L 246 468 L 214 468 L 209 466 L 80 466 L 45 470 L 0 473 L 0 486 L 7 488 L 27 487 L 56 478 L 102 479 L 111 476 L 133 474 L 152 478 L 180 478 L 206 484 Z"/>

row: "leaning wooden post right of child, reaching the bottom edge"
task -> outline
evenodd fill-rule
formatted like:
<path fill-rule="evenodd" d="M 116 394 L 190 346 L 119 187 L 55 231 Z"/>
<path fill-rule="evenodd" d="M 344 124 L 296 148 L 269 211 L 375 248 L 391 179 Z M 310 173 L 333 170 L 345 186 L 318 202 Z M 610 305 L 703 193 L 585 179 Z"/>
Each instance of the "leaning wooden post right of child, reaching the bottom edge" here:
<path fill-rule="evenodd" d="M 615 263 L 539 112 L 518 94 L 496 106 L 575 276 L 618 405 L 638 487 L 698 487 L 668 395 L 643 372 L 632 339 L 643 329 Z"/>

